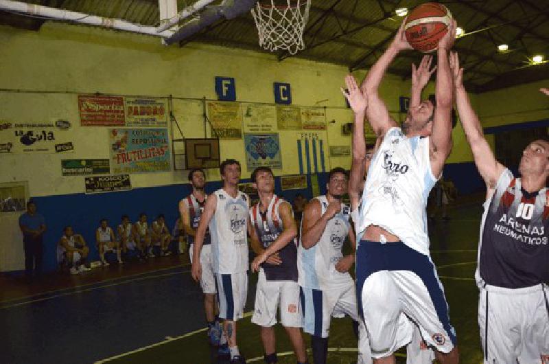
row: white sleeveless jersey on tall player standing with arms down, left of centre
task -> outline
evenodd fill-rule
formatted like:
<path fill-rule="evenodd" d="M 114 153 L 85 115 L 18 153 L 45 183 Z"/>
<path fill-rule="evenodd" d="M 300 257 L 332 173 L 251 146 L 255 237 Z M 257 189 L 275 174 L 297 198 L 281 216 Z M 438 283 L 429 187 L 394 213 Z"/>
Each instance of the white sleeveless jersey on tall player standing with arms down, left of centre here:
<path fill-rule="evenodd" d="M 215 273 L 242 273 L 248 270 L 248 195 L 238 191 L 232 198 L 220 188 L 210 220 L 211 262 Z"/>

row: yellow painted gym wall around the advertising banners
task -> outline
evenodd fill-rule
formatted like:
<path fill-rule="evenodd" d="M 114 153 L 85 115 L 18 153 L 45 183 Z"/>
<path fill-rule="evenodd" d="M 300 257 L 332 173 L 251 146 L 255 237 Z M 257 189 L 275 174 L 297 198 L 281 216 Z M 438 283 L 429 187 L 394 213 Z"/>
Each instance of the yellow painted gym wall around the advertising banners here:
<path fill-rule="evenodd" d="M 174 95 L 179 98 L 215 99 L 214 77 L 233 77 L 237 100 L 274 103 L 272 82 L 289 82 L 295 105 L 327 106 L 327 131 L 320 133 L 327 141 L 326 168 L 349 168 L 348 157 L 329 158 L 329 145 L 349 145 L 349 135 L 341 126 L 352 121 L 351 111 L 344 109 L 340 93 L 345 67 L 297 58 L 278 62 L 269 54 L 246 52 L 209 45 L 190 44 L 183 48 L 164 47 L 159 38 L 112 30 L 47 22 L 39 32 L 0 26 L 0 88 L 38 91 L 73 91 L 74 93 L 0 92 L 0 120 L 10 122 L 52 122 L 69 120 L 75 152 L 65 155 L 0 155 L 0 183 L 28 181 L 30 196 L 71 194 L 84 191 L 83 177 L 62 177 L 61 159 L 108 158 L 108 128 L 80 127 L 77 93 L 113 93 L 119 95 Z M 362 79 L 364 72 L 356 73 Z M 471 96 L 484 126 L 509 122 L 539 120 L 549 117 L 548 100 L 537 88 L 549 82 L 528 84 L 502 91 Z M 410 81 L 387 76 L 380 93 L 393 117 L 397 114 L 399 95 L 409 95 Z M 425 96 L 434 92 L 434 84 Z M 545 109 L 544 109 L 545 108 Z M 544 109 L 544 110 L 539 110 Z M 532 111 L 537 110 L 537 111 Z M 174 114 L 185 137 L 203 137 L 202 104 L 174 100 Z M 331 123 L 331 120 L 335 120 Z M 177 136 L 178 133 L 174 132 Z M 283 170 L 275 174 L 299 172 L 296 158 L 296 131 L 281 131 Z M 242 141 L 224 141 L 222 158 L 244 161 Z M 472 161 L 471 152 L 460 125 L 454 130 L 454 150 L 449 163 Z M 245 163 L 244 163 L 245 164 Z M 249 172 L 243 168 L 243 177 Z M 132 174 L 133 187 L 185 183 L 182 172 Z M 209 179 L 219 179 L 216 170 Z M 20 241 L 17 215 L 2 216 L 0 229 L 5 244 Z M 21 266 L 22 253 L 2 266 L 6 270 Z M 3 256 L 7 253 L 3 253 Z M 1 262 L 0 262 L 1 263 Z"/>

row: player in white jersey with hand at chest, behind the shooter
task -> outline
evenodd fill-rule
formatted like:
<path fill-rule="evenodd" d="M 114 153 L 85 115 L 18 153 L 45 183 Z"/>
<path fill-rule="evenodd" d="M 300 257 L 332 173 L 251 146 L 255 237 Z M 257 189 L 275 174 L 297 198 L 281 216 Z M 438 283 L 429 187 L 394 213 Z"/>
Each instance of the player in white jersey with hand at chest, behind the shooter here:
<path fill-rule="evenodd" d="M 332 169 L 326 187 L 324 196 L 312 199 L 305 207 L 297 258 L 303 330 L 312 335 L 315 364 L 326 363 L 332 316 L 349 315 L 358 335 L 356 294 L 348 272 L 355 256 L 342 253 L 347 236 L 353 251 L 356 242 L 349 224 L 349 207 L 341 203 L 347 192 L 347 172 L 343 168 Z"/>

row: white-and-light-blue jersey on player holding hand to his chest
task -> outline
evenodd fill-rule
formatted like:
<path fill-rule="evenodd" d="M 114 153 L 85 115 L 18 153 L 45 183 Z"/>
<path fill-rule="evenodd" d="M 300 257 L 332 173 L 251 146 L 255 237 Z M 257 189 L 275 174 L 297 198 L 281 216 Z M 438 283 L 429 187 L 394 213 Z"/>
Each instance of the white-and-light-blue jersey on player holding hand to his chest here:
<path fill-rule="evenodd" d="M 326 196 L 315 199 L 320 202 L 321 214 L 324 214 L 328 207 Z M 341 204 L 341 211 L 328 221 L 320 240 L 309 249 L 303 248 L 300 232 L 297 251 L 300 286 L 330 291 L 353 282 L 348 272 L 336 271 L 336 264 L 343 257 L 343 243 L 349 234 L 349 214 L 349 206 Z"/>

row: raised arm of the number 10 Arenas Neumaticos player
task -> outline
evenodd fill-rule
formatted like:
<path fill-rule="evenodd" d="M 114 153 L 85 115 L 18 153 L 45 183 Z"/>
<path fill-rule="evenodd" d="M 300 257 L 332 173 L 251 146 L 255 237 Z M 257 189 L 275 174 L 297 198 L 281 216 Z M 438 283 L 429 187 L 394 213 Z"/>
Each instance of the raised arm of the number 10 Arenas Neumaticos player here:
<path fill-rule="evenodd" d="M 467 142 L 471 146 L 478 172 L 484 179 L 487 187 L 487 196 L 491 196 L 498 179 L 504 170 L 504 166 L 495 160 L 492 150 L 482 132 L 482 126 L 478 120 L 467 91 L 463 86 L 463 68 L 459 67 L 458 54 L 450 54 L 450 64 L 456 85 L 456 104 L 458 106 L 459 119 L 465 131 Z"/>

